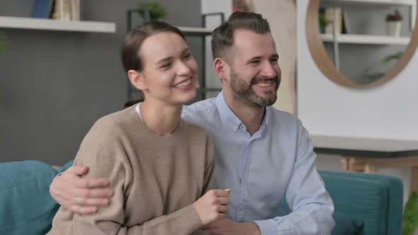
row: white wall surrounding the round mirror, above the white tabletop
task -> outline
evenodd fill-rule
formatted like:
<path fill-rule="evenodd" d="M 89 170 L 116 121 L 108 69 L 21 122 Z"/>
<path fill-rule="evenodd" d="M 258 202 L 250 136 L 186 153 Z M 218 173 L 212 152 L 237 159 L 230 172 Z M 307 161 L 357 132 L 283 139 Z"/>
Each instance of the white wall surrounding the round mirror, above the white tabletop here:
<path fill-rule="evenodd" d="M 386 84 L 354 89 L 327 79 L 310 56 L 308 1 L 298 1 L 298 116 L 312 134 L 418 139 L 418 55 Z M 358 55 L 361 56 L 361 55 Z"/>

